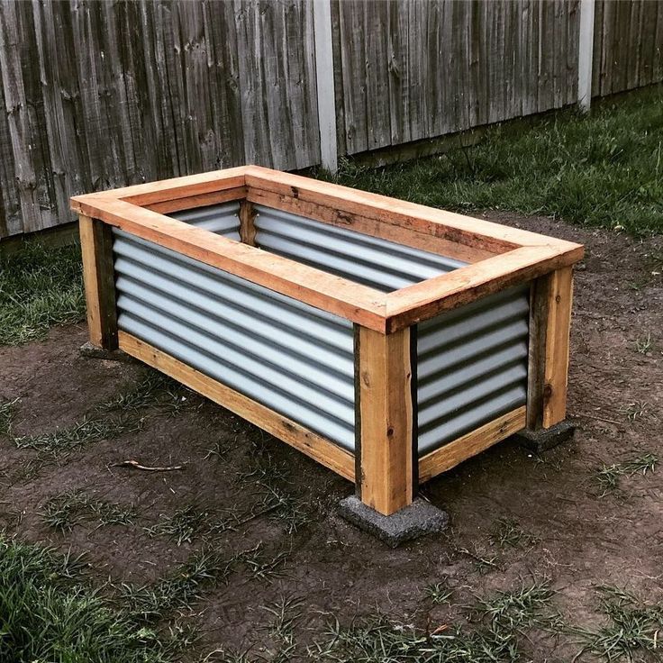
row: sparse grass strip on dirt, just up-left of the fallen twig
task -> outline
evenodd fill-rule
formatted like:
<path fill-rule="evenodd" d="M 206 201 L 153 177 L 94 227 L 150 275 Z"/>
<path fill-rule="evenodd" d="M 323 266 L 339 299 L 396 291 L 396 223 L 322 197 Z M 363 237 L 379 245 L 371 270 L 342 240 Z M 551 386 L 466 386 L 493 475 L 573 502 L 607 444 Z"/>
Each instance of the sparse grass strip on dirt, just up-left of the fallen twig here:
<path fill-rule="evenodd" d="M 83 419 L 67 428 L 14 438 L 19 449 L 39 451 L 42 456 L 58 458 L 71 451 L 82 449 L 100 440 L 112 440 L 120 435 L 141 430 L 141 420 L 134 419 Z"/>

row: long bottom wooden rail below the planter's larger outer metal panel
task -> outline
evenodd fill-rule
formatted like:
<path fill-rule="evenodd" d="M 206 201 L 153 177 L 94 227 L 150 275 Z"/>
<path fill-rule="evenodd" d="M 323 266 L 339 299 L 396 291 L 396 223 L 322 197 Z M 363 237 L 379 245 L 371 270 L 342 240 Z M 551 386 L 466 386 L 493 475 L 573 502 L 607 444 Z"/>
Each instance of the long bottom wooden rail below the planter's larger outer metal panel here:
<path fill-rule="evenodd" d="M 230 387 L 205 376 L 195 368 L 186 366 L 181 361 L 137 339 L 132 334 L 119 332 L 119 341 L 120 350 L 175 378 L 214 403 L 223 405 L 231 412 L 256 424 L 279 440 L 283 440 L 310 458 L 322 463 L 325 467 L 332 469 L 341 477 L 354 481 L 354 456 L 330 440 L 308 431 L 299 423 L 295 423 L 273 412 L 268 407 L 252 401 L 247 396 L 241 395 Z"/>

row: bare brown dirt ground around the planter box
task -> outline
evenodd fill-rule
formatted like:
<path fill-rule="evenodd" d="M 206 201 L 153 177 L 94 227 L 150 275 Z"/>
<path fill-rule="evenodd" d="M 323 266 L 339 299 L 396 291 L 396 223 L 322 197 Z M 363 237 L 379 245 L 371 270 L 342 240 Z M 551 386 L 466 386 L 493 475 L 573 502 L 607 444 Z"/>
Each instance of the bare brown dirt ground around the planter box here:
<path fill-rule="evenodd" d="M 177 408 L 139 408 L 141 431 L 48 462 L 35 462 L 36 451 L 17 450 L 0 436 L 0 518 L 7 530 L 63 552 L 86 552 L 95 577 L 115 584 L 154 583 L 204 545 L 229 556 L 259 545 L 256 559 L 278 573 L 260 574 L 258 563 L 245 564 L 204 591 L 186 615 L 201 634 L 192 660 L 222 645 L 257 652 L 268 646 L 263 606 L 284 596 L 301 600 L 296 632 L 304 642 L 322 630 L 325 613 L 341 623 L 382 613 L 431 632 L 442 623 L 465 622 L 463 606 L 472 597 L 531 577 L 549 577 L 555 605 L 578 625 L 602 619 L 597 585 L 626 587 L 660 602 L 663 470 L 624 475 L 604 496 L 596 472 L 647 453 L 663 457 L 663 241 L 549 219 L 486 216 L 586 244 L 576 275 L 569 378 L 568 413 L 577 434 L 541 458 L 506 440 L 422 486 L 450 513 L 444 534 L 387 548 L 335 513 L 350 483 L 191 394 Z M 43 342 L 0 348 L 0 401 L 20 399 L 14 436 L 97 416 L 99 404 L 144 376 L 137 362 L 80 357 L 84 341 L 81 324 L 54 329 Z M 125 459 L 185 468 L 111 467 Z M 287 493 L 295 513 L 236 517 L 234 529 L 200 526 L 179 546 L 146 531 L 186 507 L 204 522 L 255 513 L 269 486 Z M 90 520 L 61 532 L 44 522 L 50 498 L 78 489 L 132 504 L 133 525 Z M 500 519 L 525 533 L 516 545 L 495 539 Z M 438 582 L 453 590 L 450 604 L 433 604 L 425 595 Z M 568 661 L 578 646 L 562 635 L 533 638 L 525 649 L 532 660 Z"/>

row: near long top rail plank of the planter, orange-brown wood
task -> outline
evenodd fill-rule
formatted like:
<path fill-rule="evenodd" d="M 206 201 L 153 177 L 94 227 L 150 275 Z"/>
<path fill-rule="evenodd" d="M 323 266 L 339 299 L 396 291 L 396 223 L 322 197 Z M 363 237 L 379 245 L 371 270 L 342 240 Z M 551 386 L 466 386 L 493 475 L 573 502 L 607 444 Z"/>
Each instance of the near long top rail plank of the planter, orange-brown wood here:
<path fill-rule="evenodd" d="M 232 241 L 122 200 L 97 196 L 83 212 L 167 249 L 176 250 L 378 332 L 385 331 L 384 295 L 320 269 Z"/>

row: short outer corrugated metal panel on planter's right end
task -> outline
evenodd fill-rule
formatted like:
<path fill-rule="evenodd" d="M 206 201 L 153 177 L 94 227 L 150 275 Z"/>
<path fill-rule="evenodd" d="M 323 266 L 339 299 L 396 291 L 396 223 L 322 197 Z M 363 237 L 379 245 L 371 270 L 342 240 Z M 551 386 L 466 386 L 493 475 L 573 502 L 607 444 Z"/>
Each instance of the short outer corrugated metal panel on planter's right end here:
<path fill-rule="evenodd" d="M 526 403 L 529 286 L 418 325 L 419 455 Z"/>

